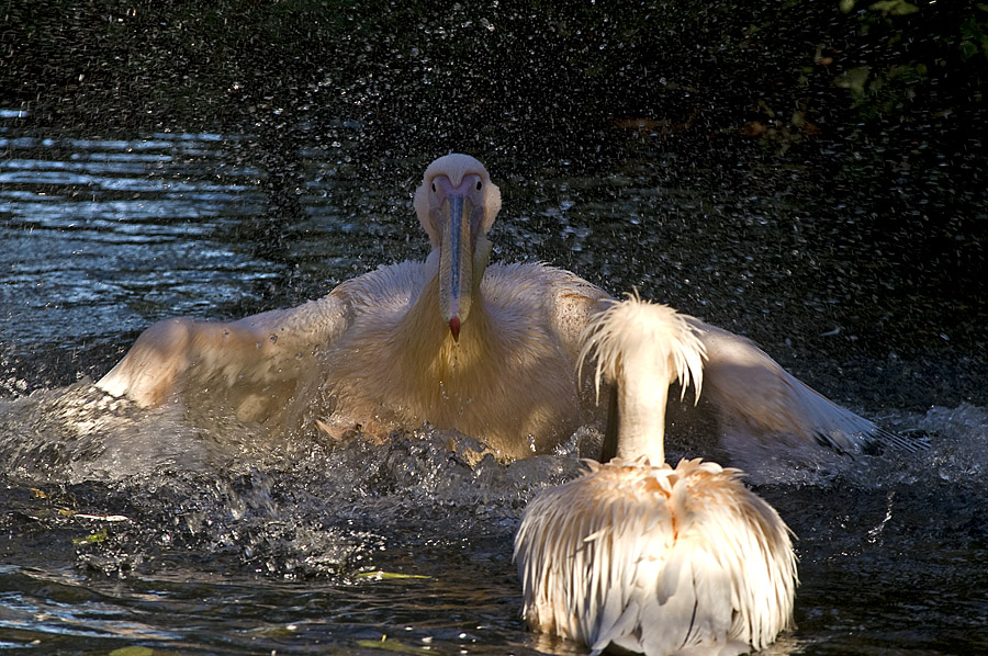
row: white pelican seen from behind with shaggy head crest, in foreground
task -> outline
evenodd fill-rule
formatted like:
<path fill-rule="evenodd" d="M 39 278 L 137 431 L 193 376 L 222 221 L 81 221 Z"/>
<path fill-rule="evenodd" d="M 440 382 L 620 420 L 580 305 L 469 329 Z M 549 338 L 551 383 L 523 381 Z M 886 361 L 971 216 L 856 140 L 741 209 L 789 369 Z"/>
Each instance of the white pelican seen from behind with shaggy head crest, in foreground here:
<path fill-rule="evenodd" d="M 649 656 L 741 654 L 791 623 L 789 530 L 738 470 L 664 462 L 670 383 L 699 394 L 703 342 L 672 309 L 629 299 L 587 330 L 617 385 L 617 459 L 541 493 L 515 536 L 523 617 L 537 631 Z"/>

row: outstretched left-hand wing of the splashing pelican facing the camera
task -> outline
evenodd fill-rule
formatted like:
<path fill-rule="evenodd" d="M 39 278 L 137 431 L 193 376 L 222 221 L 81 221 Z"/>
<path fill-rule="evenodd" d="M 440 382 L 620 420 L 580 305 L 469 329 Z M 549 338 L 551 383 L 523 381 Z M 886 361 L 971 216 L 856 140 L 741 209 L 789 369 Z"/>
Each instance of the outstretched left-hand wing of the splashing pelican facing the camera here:
<path fill-rule="evenodd" d="M 242 419 L 259 419 L 283 406 L 300 381 L 315 371 L 318 353 L 350 323 L 346 294 L 237 321 L 158 321 L 137 338 L 97 386 L 143 407 L 173 392 L 223 396 Z"/>

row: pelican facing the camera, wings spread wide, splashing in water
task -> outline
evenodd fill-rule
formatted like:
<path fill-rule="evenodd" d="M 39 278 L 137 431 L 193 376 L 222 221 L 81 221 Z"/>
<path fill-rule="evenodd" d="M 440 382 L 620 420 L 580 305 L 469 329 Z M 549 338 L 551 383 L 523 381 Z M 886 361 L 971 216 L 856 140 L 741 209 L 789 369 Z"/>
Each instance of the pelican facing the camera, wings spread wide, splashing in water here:
<path fill-rule="evenodd" d="M 384 437 L 429 422 L 507 457 L 551 449 L 597 412 L 573 372 L 580 335 L 608 294 L 541 263 L 487 265 L 501 192 L 472 157 L 434 161 L 414 206 L 431 246 L 425 262 L 380 267 L 321 299 L 237 321 L 159 321 L 97 385 L 144 407 L 172 400 L 197 420 L 233 415 L 276 432 L 317 425 Z M 748 340 L 694 325 L 707 398 L 731 430 L 846 451 L 894 438 Z"/>

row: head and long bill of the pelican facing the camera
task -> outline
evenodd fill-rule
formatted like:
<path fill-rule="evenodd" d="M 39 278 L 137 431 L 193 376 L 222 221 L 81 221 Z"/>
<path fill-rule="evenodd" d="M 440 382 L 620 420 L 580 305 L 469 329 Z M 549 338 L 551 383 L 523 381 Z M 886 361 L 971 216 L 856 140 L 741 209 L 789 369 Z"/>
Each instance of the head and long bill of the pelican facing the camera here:
<path fill-rule="evenodd" d="M 486 234 L 501 211 L 501 190 L 474 158 L 446 155 L 426 169 L 414 204 L 433 250 L 439 249 L 439 306 L 459 340 L 491 256 Z"/>

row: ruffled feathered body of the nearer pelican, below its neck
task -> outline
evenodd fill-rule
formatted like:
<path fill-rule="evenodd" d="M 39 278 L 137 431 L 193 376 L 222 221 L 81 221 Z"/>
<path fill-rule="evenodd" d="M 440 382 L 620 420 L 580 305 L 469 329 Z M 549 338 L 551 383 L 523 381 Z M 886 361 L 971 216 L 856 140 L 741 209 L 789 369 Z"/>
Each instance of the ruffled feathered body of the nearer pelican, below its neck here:
<path fill-rule="evenodd" d="M 529 504 L 515 536 L 530 627 L 593 654 L 667 655 L 760 649 L 791 624 L 789 530 L 738 470 L 588 464 Z"/>

